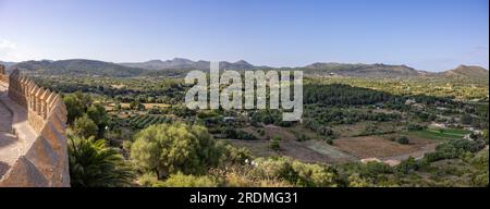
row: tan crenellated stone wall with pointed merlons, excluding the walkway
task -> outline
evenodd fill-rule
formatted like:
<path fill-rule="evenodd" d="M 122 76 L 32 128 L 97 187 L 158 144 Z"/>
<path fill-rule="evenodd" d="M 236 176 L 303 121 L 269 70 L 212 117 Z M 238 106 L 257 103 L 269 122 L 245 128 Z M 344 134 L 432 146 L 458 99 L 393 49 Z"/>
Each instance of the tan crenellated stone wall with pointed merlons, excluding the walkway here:
<path fill-rule="evenodd" d="M 21 76 L 19 70 L 8 78 L 9 98 L 26 110 L 27 124 L 36 137 L 0 186 L 70 186 L 66 107 L 62 98 Z"/>

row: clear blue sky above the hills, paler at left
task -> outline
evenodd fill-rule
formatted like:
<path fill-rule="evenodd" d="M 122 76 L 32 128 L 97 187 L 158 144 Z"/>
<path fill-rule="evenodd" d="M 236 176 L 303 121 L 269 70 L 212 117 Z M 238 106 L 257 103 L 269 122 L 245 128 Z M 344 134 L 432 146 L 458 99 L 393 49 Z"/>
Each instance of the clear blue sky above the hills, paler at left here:
<path fill-rule="evenodd" d="M 0 60 L 489 66 L 488 0 L 0 0 Z"/>

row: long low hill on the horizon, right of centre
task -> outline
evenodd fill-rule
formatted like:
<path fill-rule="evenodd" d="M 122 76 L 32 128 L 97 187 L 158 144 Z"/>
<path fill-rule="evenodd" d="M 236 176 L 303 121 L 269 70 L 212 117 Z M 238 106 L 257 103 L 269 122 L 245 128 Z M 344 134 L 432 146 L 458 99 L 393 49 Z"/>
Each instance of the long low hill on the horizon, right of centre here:
<path fill-rule="evenodd" d="M 317 62 L 305 67 L 306 74 L 340 75 L 351 77 L 414 77 L 422 72 L 405 65 L 388 64 L 344 64 Z"/>

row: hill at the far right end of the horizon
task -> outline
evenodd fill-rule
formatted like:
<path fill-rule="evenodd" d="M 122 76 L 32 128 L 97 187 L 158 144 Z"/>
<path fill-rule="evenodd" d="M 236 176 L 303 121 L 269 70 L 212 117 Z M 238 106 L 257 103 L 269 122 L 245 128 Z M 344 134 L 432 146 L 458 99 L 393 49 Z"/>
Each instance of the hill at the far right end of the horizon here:
<path fill-rule="evenodd" d="M 454 70 L 442 72 L 440 75 L 453 79 L 489 83 L 489 71 L 481 66 L 460 65 Z"/>

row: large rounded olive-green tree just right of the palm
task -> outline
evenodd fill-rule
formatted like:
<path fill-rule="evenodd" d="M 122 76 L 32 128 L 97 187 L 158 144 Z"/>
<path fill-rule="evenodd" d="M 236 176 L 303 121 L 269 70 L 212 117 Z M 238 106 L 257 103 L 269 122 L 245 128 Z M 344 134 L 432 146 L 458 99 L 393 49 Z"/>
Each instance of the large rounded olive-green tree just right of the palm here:
<path fill-rule="evenodd" d="M 183 123 L 152 125 L 137 134 L 131 158 L 158 179 L 171 174 L 203 174 L 218 164 L 221 152 L 208 131 Z"/>

